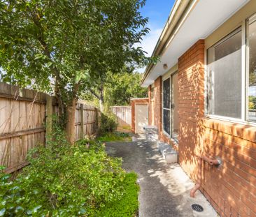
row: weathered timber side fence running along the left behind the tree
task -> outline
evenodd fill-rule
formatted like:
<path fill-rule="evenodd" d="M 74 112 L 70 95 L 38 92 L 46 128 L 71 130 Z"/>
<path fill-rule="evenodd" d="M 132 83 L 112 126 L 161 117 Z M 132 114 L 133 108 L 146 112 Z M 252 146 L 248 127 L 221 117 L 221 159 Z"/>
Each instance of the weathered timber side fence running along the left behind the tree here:
<path fill-rule="evenodd" d="M 27 165 L 29 149 L 45 144 L 50 114 L 57 114 L 57 100 L 46 93 L 0 82 L 0 165 L 14 172 Z M 97 109 L 78 103 L 76 139 L 97 130 Z"/>

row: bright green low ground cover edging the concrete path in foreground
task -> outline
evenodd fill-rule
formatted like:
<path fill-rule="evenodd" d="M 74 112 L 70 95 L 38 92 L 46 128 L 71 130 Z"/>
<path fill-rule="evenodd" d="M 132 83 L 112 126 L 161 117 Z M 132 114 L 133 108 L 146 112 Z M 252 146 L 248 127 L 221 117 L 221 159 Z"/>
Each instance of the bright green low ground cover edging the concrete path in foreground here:
<path fill-rule="evenodd" d="M 124 195 L 121 200 L 106 204 L 99 209 L 97 216 L 122 216 L 134 217 L 138 213 L 138 191 L 139 186 L 136 184 L 137 174 L 129 172 L 123 181 Z"/>

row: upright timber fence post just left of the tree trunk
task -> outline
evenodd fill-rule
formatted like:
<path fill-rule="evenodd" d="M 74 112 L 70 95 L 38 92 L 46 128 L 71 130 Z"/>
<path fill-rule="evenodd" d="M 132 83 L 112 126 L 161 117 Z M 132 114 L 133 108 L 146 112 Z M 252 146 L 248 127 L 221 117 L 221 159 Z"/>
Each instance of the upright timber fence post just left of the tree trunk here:
<path fill-rule="evenodd" d="M 45 128 L 46 144 L 50 142 L 51 134 L 52 134 L 52 96 L 46 94 L 46 128 Z"/>

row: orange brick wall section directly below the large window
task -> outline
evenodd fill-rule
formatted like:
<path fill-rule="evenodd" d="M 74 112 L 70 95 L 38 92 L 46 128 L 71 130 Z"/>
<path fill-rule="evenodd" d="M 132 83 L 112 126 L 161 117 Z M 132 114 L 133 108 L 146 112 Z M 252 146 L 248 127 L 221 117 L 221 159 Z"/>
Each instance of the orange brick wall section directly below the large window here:
<path fill-rule="evenodd" d="M 255 127 L 201 119 L 204 153 L 219 156 L 220 168 L 204 165 L 203 193 L 221 216 L 256 216 Z"/>

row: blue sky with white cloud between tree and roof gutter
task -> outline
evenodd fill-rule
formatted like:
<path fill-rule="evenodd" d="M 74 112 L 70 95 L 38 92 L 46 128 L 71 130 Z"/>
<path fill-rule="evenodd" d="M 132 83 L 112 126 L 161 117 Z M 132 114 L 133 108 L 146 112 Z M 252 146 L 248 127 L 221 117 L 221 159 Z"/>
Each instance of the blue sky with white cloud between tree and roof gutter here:
<path fill-rule="evenodd" d="M 141 8 L 141 15 L 149 18 L 150 33 L 143 38 L 140 46 L 145 52 L 148 52 L 147 56 L 149 57 L 157 44 L 162 29 L 164 29 L 174 2 L 175 0 L 147 0 L 145 6 Z M 145 68 L 138 69 L 140 73 L 143 73 L 144 70 Z"/>

